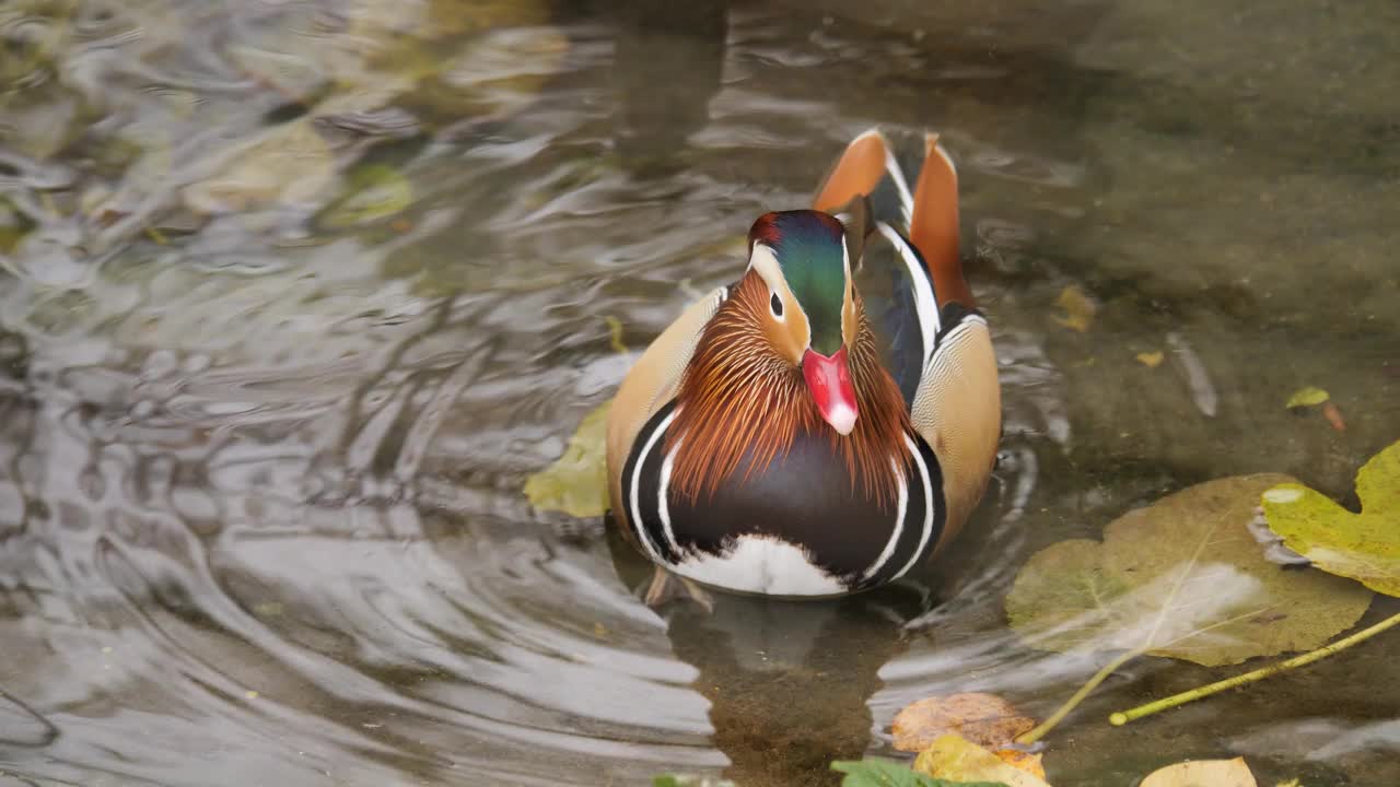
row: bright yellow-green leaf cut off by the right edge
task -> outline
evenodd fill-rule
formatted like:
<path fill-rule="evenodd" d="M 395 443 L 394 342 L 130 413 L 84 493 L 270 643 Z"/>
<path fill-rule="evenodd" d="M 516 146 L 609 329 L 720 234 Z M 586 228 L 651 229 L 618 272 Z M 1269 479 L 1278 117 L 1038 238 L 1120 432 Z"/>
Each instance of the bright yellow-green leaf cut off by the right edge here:
<path fill-rule="evenodd" d="M 1361 513 L 1319 492 L 1282 483 L 1263 493 L 1268 528 L 1284 546 L 1323 571 L 1351 577 L 1386 595 L 1400 595 L 1400 443 L 1357 472 Z"/>

